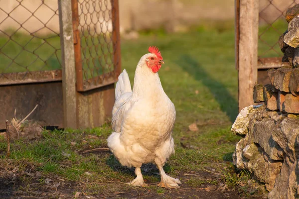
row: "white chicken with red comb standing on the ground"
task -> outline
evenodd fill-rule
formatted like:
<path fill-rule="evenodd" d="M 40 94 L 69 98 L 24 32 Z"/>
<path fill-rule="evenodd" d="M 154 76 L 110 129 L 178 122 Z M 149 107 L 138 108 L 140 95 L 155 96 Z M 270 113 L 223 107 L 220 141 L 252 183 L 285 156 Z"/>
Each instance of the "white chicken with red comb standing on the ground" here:
<path fill-rule="evenodd" d="M 164 93 L 158 70 L 164 64 L 157 47 L 138 62 L 133 91 L 128 73 L 124 70 L 116 84 L 115 104 L 112 110 L 112 128 L 108 147 L 117 160 L 127 167 L 135 167 L 133 186 L 147 186 L 141 166 L 154 163 L 159 169 L 158 186 L 178 188 L 181 182 L 167 176 L 163 170 L 168 157 L 174 153 L 171 137 L 175 121 L 175 107 Z"/>

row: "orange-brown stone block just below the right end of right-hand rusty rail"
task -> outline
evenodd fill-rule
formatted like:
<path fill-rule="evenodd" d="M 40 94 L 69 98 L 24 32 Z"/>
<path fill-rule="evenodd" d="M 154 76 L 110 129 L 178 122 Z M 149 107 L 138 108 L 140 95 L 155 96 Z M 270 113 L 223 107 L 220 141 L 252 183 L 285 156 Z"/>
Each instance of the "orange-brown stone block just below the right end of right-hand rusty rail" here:
<path fill-rule="evenodd" d="M 282 67 L 277 70 L 274 78 L 274 86 L 276 89 L 283 91 L 283 92 L 290 92 L 289 84 L 290 84 L 290 77 L 292 74 L 291 67 Z"/>

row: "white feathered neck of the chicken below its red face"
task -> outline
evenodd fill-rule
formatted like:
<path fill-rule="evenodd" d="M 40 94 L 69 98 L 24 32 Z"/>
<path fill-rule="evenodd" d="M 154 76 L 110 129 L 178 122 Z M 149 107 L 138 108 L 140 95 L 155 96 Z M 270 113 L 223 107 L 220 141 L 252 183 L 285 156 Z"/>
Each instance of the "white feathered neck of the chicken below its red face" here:
<path fill-rule="evenodd" d="M 149 68 L 138 66 L 135 71 L 133 96 L 152 97 L 164 94 L 158 73 L 152 73 Z"/>

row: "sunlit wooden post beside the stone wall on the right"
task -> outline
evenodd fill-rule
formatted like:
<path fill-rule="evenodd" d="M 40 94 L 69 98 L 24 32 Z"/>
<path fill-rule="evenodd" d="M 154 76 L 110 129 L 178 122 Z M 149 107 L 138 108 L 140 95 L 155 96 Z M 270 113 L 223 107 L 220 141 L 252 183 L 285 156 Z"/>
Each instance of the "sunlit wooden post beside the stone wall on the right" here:
<path fill-rule="evenodd" d="M 240 0 L 238 63 L 239 111 L 254 104 L 258 80 L 259 0 Z"/>

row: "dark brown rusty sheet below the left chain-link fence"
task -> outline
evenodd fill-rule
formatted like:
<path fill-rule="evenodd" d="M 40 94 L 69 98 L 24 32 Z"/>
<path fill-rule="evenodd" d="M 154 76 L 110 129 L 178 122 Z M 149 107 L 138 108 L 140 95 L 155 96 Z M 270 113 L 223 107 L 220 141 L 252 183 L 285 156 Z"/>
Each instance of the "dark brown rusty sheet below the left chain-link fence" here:
<path fill-rule="evenodd" d="M 63 125 L 62 82 L 0 86 L 0 129 L 5 119 L 25 117 L 38 104 L 28 119 L 47 126 Z"/>

